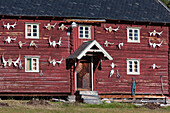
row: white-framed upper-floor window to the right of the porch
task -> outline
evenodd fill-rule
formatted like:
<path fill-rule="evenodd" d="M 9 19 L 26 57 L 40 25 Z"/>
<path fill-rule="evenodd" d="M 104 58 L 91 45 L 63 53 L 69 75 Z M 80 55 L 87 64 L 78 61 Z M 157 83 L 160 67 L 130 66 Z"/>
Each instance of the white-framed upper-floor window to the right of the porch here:
<path fill-rule="evenodd" d="M 127 42 L 140 43 L 140 28 L 127 28 Z"/>

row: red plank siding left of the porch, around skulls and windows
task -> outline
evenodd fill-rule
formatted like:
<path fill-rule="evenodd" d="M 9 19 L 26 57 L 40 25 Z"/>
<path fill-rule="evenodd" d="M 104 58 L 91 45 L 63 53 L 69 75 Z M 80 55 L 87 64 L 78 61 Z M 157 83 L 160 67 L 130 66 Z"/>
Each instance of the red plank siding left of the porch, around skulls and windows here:
<path fill-rule="evenodd" d="M 3 29 L 3 22 L 13 24 L 17 22 L 14 29 Z M 25 39 L 25 22 L 39 23 L 39 39 Z M 56 28 L 48 31 L 44 29 L 44 24 L 57 22 Z M 16 20 L 16 19 L 1 19 L 0 20 L 0 55 L 4 53 L 5 60 L 11 58 L 15 61 L 21 55 L 23 70 L 14 68 L 13 66 L 4 68 L 2 62 L 0 65 L 0 93 L 70 93 L 70 70 L 66 70 L 65 59 L 70 55 L 70 37 L 67 32 L 59 30 L 58 26 L 63 21 L 50 20 Z M 17 40 L 10 44 L 3 42 L 4 38 L 17 37 Z M 49 47 L 48 39 L 51 36 L 51 41 L 58 42 L 62 37 L 62 44 L 59 48 Z M 34 40 L 38 48 L 28 48 L 30 42 Z M 22 49 L 19 49 L 18 42 L 26 42 Z M 25 72 L 25 55 L 37 55 L 39 59 L 40 72 Z M 55 67 L 48 63 L 48 59 L 60 60 L 64 58 L 63 63 Z"/>

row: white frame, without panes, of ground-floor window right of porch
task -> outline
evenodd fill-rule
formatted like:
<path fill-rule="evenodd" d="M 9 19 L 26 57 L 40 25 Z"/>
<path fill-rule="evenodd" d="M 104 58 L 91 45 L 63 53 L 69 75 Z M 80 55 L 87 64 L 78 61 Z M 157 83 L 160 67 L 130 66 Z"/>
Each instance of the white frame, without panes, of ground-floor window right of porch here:
<path fill-rule="evenodd" d="M 127 75 L 140 75 L 140 59 L 127 59 Z M 132 61 L 132 72 L 130 72 L 129 61 Z M 135 63 L 137 62 L 137 72 L 135 72 Z"/>

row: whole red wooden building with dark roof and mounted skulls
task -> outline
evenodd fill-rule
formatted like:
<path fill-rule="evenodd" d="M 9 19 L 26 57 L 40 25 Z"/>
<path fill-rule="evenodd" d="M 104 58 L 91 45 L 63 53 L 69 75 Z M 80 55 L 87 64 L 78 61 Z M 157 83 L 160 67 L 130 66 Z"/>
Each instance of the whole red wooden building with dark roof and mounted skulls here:
<path fill-rule="evenodd" d="M 169 96 L 159 0 L 33 1 L 0 1 L 0 96 Z"/>

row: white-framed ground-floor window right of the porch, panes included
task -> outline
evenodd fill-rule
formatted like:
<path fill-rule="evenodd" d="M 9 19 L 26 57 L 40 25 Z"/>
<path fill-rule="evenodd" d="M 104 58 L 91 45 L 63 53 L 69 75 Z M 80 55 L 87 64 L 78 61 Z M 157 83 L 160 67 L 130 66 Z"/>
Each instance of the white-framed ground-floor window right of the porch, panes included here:
<path fill-rule="evenodd" d="M 140 74 L 140 60 L 127 59 L 127 74 L 131 75 Z"/>

